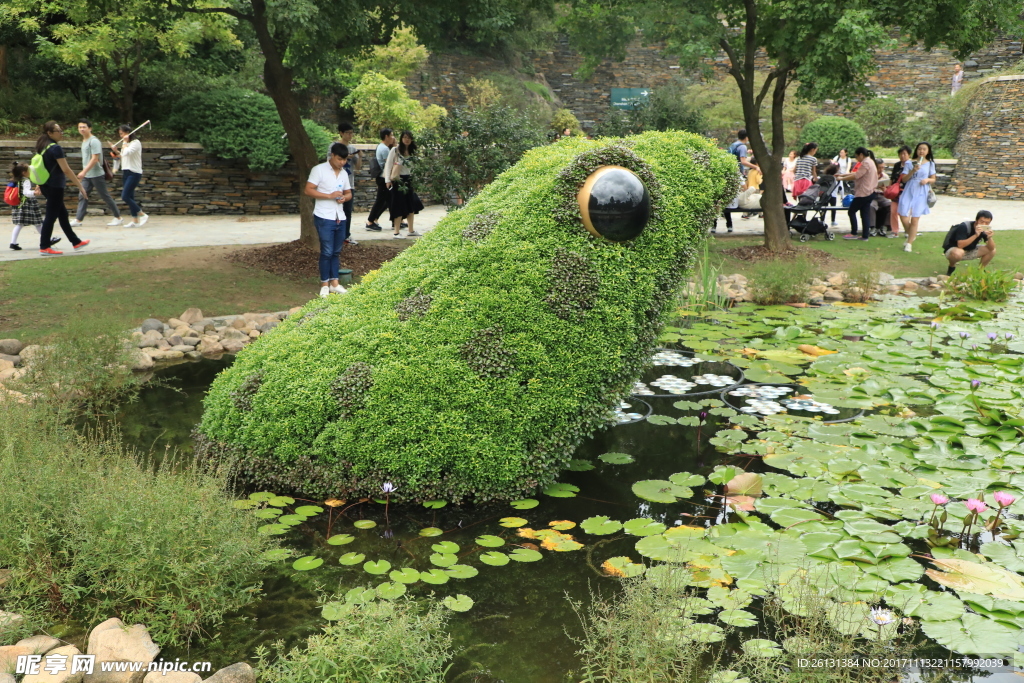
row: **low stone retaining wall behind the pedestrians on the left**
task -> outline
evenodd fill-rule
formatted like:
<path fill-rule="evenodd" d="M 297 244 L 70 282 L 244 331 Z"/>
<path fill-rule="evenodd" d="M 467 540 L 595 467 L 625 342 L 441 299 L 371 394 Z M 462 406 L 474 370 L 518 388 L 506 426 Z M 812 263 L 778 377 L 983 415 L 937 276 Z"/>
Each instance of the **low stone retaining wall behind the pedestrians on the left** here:
<path fill-rule="evenodd" d="M 28 164 L 34 140 L 0 140 L 0 165 L 9 169 L 12 162 Z M 79 140 L 63 145 L 72 169 L 82 168 Z M 360 144 L 373 150 L 375 145 Z M 106 148 L 103 151 L 106 154 Z M 366 155 L 364 155 L 366 157 Z M 194 142 L 142 141 L 142 182 L 135 198 L 146 213 L 155 215 L 211 214 L 283 214 L 299 212 L 299 178 L 295 164 L 270 172 L 253 172 L 245 161 L 215 157 Z M 115 178 L 112 195 L 126 213 L 120 200 L 121 178 Z M 376 185 L 369 175 L 369 164 L 356 174 L 355 210 L 367 211 L 373 204 Z M 70 188 L 66 196 L 69 211 L 78 205 L 78 193 Z M 3 205 L 4 213 L 9 211 Z M 90 214 L 105 212 L 95 193 L 89 202 Z"/>

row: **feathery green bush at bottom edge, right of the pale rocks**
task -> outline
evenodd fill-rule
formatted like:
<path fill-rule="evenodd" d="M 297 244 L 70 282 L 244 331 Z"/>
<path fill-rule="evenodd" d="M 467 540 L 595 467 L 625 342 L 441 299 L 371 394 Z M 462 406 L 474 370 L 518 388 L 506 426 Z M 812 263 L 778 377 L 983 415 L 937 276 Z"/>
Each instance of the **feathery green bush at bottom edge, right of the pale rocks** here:
<path fill-rule="evenodd" d="M 453 653 L 439 603 L 422 607 L 411 600 L 378 600 L 334 606 L 336 621 L 310 636 L 305 647 L 272 660 L 267 649 L 257 650 L 260 683 L 444 683 Z"/>

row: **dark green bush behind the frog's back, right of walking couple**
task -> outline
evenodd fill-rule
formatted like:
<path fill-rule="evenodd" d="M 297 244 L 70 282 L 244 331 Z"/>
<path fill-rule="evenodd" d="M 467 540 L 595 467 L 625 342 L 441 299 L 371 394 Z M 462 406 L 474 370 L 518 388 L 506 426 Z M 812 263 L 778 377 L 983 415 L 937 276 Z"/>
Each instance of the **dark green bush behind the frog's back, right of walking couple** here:
<path fill-rule="evenodd" d="M 468 135 L 464 135 L 468 133 Z M 420 138 L 417 177 L 436 202 L 463 202 L 515 164 L 545 137 L 508 106 L 457 109 Z"/>

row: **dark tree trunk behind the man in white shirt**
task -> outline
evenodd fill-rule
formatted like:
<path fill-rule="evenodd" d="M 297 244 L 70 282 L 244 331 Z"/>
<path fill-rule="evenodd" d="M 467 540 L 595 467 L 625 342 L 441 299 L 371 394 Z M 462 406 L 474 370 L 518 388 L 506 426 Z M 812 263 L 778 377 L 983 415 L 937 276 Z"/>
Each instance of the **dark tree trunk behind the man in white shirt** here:
<path fill-rule="evenodd" d="M 319 250 L 319 238 L 313 226 L 313 199 L 303 191 L 309 171 L 319 162 L 319 156 L 302 126 L 299 103 L 292 92 L 292 70 L 285 67 L 282 51 L 270 34 L 264 0 L 253 0 L 253 13 L 249 17 L 263 51 L 263 83 L 278 108 L 281 125 L 288 135 L 288 150 L 299 169 L 299 240 L 302 244 Z"/>

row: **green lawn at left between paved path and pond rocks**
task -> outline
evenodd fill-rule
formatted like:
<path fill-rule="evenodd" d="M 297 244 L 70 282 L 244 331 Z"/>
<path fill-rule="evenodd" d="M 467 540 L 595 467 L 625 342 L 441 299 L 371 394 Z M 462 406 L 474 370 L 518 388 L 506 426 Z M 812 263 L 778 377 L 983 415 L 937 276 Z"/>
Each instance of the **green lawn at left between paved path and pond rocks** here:
<path fill-rule="evenodd" d="M 72 321 L 121 330 L 143 318 L 285 310 L 316 295 L 296 282 L 231 263 L 234 247 L 65 256 L 0 264 L 0 338 L 35 343 Z"/>

